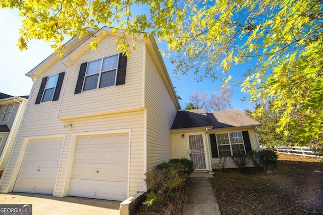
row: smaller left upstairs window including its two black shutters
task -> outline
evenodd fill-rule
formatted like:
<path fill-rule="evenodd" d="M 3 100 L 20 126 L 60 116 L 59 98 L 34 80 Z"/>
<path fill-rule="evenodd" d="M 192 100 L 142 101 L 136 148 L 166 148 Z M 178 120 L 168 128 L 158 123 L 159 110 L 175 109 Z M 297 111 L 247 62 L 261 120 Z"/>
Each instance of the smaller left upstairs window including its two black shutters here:
<path fill-rule="evenodd" d="M 63 72 L 42 78 L 35 104 L 59 100 L 64 75 L 65 73 Z"/>

